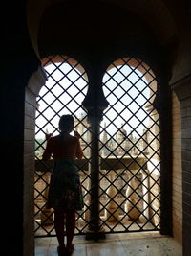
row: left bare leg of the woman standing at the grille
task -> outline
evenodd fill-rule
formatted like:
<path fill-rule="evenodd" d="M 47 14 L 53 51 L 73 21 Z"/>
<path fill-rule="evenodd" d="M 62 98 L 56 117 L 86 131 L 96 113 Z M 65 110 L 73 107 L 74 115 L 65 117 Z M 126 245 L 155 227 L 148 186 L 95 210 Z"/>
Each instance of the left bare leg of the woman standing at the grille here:
<path fill-rule="evenodd" d="M 55 233 L 57 237 L 57 241 L 59 244 L 59 250 L 64 252 L 65 244 L 64 244 L 64 214 L 65 211 L 63 207 L 58 206 L 54 209 L 54 227 Z"/>

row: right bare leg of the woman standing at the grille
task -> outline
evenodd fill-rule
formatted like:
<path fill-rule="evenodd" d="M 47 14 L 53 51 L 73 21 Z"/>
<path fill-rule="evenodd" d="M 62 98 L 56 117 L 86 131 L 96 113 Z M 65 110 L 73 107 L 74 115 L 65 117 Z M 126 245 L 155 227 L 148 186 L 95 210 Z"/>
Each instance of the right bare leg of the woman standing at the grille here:
<path fill-rule="evenodd" d="M 66 236 L 67 236 L 67 250 L 71 251 L 73 247 L 75 229 L 75 211 L 67 210 L 66 212 Z"/>

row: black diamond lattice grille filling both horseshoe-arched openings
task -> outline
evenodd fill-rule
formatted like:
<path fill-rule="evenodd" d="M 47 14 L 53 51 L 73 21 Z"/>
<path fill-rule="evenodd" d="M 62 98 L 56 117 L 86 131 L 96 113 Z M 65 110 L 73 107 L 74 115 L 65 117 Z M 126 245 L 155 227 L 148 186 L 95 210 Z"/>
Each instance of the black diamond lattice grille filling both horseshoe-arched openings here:
<path fill-rule="evenodd" d="M 58 120 L 72 114 L 84 152 L 76 161 L 84 195 L 84 211 L 76 215 L 75 234 L 84 234 L 91 219 L 91 130 L 82 109 L 88 79 L 82 66 L 66 56 L 43 60 L 48 81 L 37 98 L 34 181 L 35 236 L 53 236 L 53 211 L 45 203 L 53 159 L 44 163 L 46 133 L 58 133 Z M 99 221 L 105 232 L 159 230 L 159 113 L 153 107 L 157 82 L 151 69 L 136 58 L 113 62 L 103 78 L 109 102 L 99 138 Z"/>

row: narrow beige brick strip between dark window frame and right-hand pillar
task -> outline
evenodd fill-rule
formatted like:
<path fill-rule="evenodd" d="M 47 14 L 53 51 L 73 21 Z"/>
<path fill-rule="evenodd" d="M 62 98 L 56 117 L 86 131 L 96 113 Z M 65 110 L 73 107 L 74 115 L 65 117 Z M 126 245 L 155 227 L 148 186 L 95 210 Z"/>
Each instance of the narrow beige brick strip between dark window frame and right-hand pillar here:
<path fill-rule="evenodd" d="M 175 93 L 173 100 L 173 234 L 182 243 L 182 169 L 180 102 Z"/>

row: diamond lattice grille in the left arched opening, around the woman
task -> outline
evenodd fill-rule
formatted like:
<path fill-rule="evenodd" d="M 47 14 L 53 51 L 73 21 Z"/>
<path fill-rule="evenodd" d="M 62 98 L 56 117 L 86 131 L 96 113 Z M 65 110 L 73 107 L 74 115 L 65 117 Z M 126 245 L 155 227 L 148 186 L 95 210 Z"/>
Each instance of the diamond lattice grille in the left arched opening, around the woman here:
<path fill-rule="evenodd" d="M 87 75 L 82 66 L 66 56 L 52 56 L 43 61 L 48 81 L 41 88 L 37 98 L 36 130 L 35 130 L 35 180 L 34 180 L 34 221 L 35 236 L 53 236 L 53 211 L 45 208 L 50 170 L 53 159 L 48 163 L 41 156 L 46 147 L 46 133 L 58 133 L 58 121 L 63 114 L 72 114 L 75 120 L 74 129 L 81 134 L 81 146 L 84 158 L 76 161 L 79 167 L 85 209 L 77 213 L 76 233 L 83 233 L 87 226 L 88 211 L 88 162 L 90 161 L 90 130 L 87 123 L 87 113 L 81 107 L 81 102 L 88 89 Z"/>

